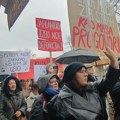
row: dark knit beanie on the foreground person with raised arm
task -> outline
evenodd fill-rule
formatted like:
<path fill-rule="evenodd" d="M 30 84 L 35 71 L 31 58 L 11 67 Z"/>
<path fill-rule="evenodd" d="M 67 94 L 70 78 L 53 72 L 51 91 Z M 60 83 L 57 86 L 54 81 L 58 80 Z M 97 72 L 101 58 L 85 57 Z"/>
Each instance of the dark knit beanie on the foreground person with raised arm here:
<path fill-rule="evenodd" d="M 63 83 L 69 83 L 73 80 L 75 73 L 82 69 L 82 67 L 86 68 L 81 62 L 73 62 L 69 64 L 64 70 L 64 76 L 62 79 Z"/>

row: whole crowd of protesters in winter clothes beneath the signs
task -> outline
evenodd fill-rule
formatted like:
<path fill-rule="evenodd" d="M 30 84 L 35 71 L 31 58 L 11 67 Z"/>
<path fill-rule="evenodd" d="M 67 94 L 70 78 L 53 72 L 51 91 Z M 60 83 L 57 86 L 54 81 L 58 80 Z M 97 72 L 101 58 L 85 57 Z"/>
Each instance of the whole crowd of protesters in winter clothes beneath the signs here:
<path fill-rule="evenodd" d="M 120 120 L 120 66 L 107 47 L 105 55 L 110 65 L 102 80 L 91 64 L 81 62 L 69 64 L 62 79 L 56 63 L 48 64 L 46 74 L 30 84 L 8 76 L 0 90 L 0 120 L 108 120 L 108 92 L 113 120 Z"/>

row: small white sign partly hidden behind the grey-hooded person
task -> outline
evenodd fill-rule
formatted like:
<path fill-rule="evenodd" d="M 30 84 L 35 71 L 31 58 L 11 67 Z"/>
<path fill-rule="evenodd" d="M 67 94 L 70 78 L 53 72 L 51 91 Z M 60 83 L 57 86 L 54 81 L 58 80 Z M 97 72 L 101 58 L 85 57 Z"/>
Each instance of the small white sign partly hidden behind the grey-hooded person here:
<path fill-rule="evenodd" d="M 46 65 L 34 65 L 34 80 L 46 74 Z"/>

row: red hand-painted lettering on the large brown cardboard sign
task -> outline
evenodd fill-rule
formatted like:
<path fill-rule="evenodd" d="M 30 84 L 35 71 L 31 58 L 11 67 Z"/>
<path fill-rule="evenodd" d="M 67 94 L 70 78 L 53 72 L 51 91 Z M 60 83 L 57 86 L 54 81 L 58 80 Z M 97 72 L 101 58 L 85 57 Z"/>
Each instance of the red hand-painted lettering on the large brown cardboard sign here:
<path fill-rule="evenodd" d="M 78 24 L 73 26 L 72 30 L 74 47 L 91 48 L 94 45 L 93 47 L 104 50 L 106 46 L 109 46 L 113 51 L 120 53 L 120 37 L 114 36 L 111 26 L 80 17 Z"/>

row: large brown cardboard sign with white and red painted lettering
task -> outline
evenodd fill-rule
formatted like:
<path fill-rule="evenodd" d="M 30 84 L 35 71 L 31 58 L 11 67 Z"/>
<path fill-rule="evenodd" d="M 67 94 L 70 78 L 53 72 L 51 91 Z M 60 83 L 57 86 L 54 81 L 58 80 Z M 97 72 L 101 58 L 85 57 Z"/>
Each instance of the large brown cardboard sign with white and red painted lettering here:
<path fill-rule="evenodd" d="M 120 36 L 114 9 L 105 0 L 67 0 L 74 48 L 104 50 L 120 54 Z"/>

